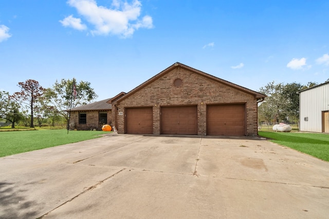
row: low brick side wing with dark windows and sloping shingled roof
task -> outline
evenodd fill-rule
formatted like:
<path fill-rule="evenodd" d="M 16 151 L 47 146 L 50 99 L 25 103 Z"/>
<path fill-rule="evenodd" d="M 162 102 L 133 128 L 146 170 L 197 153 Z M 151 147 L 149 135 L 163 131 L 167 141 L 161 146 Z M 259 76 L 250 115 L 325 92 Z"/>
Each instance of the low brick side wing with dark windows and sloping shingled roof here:
<path fill-rule="evenodd" d="M 77 130 L 102 130 L 102 126 L 112 123 L 112 105 L 109 99 L 72 108 L 70 124 Z M 71 125 L 70 125 L 71 126 Z"/>

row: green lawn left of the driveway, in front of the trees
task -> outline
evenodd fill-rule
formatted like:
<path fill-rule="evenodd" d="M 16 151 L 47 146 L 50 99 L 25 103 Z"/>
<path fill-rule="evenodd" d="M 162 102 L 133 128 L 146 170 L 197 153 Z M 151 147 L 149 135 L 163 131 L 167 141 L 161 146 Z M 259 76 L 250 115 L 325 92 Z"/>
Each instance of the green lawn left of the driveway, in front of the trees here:
<path fill-rule="evenodd" d="M 101 137 L 103 131 L 28 130 L 0 132 L 0 157 Z"/>

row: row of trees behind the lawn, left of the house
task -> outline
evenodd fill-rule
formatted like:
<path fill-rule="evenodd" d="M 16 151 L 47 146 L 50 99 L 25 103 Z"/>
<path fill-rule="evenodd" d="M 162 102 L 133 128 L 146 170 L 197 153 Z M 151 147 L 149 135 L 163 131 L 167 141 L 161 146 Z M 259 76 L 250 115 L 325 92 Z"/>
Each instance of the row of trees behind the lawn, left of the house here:
<path fill-rule="evenodd" d="M 34 117 L 36 116 L 38 126 L 41 127 L 45 118 L 51 118 L 54 122 L 63 117 L 68 123 L 69 112 L 67 110 L 88 104 L 97 98 L 94 89 L 90 87 L 89 82 L 80 81 L 75 84 L 76 95 L 72 98 L 72 87 L 75 83 L 73 79 L 61 79 L 51 88 L 43 88 L 38 81 L 27 79 L 25 82 L 19 82 L 20 91 L 9 94 L 6 91 L 0 91 L 0 118 L 9 121 L 12 128 L 15 123 L 24 121 L 27 125 L 34 128 Z"/>

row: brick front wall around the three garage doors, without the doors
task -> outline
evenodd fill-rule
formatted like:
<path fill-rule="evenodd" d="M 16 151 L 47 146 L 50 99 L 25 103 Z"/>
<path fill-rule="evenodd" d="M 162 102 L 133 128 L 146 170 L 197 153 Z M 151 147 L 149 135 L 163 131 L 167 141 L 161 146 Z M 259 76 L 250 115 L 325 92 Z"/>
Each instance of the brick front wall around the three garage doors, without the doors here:
<path fill-rule="evenodd" d="M 174 86 L 182 79 L 180 87 Z M 124 133 L 125 107 L 153 107 L 153 134 L 160 134 L 160 106 L 197 105 L 198 134 L 206 134 L 206 108 L 208 104 L 245 103 L 246 134 L 257 134 L 257 99 L 252 94 L 229 87 L 185 68 L 177 67 L 156 81 L 120 101 L 117 105 L 118 133 Z"/>

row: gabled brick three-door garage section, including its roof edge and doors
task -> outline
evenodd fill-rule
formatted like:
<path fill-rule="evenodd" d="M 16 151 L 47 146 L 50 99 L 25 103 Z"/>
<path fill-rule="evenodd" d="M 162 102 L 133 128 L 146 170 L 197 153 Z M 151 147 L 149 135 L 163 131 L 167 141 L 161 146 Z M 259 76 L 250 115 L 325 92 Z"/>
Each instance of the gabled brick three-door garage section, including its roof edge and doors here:
<path fill-rule="evenodd" d="M 175 63 L 107 101 L 118 133 L 257 135 L 264 94 Z"/>

